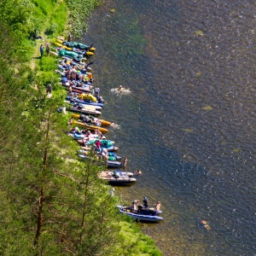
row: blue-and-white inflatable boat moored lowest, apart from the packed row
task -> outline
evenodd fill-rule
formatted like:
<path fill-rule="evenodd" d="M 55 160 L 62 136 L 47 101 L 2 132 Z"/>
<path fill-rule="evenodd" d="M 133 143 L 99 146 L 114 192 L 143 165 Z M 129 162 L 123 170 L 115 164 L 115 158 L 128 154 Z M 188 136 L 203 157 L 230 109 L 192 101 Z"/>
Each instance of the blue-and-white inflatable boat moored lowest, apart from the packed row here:
<path fill-rule="evenodd" d="M 146 211 L 151 213 L 146 213 Z M 159 222 L 160 220 L 164 219 L 158 216 L 155 211 L 148 211 L 147 208 L 145 210 L 142 209 L 141 211 L 138 212 L 131 212 L 126 207 L 119 207 L 119 212 L 127 216 L 130 216 L 131 218 L 135 218 L 137 220 L 142 220 L 146 222 Z"/>

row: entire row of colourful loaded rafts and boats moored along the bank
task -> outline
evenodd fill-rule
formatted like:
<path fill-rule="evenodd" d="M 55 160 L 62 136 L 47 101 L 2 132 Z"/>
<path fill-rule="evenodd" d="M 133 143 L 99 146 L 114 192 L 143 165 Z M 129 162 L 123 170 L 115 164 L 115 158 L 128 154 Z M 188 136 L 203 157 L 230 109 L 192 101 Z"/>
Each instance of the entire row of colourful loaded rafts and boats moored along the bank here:
<path fill-rule="evenodd" d="M 67 111 L 72 112 L 69 121 L 71 128 L 69 136 L 73 137 L 80 145 L 78 151 L 79 159 L 93 160 L 99 166 L 106 166 L 106 169 L 108 167 L 119 168 L 113 172 L 103 171 L 97 174 L 98 178 L 108 184 L 124 186 L 136 183 L 137 178 L 133 177 L 133 172 L 124 172 L 125 170 L 120 169 L 125 169 L 127 159 L 125 158 L 122 162 L 122 157 L 115 153 L 119 148 L 103 135 L 103 133 L 108 132 L 108 129 L 102 126 L 108 125 L 111 127 L 113 122 L 98 118 L 102 114 L 105 101 L 100 96 L 100 89 L 97 86 L 94 89 L 93 86 L 92 69 L 88 68 L 89 64 L 93 62 L 88 64 L 81 62 L 82 56 L 90 56 L 87 53 L 89 49 L 92 50 L 92 45 L 83 46 L 79 43 L 71 44 L 71 42 L 60 40 L 55 44 L 60 47 L 58 55 L 63 55 L 63 61 L 57 65 L 58 70 L 56 72 L 61 74 L 61 84 L 67 88 L 65 102 L 68 104 Z M 67 58 L 72 58 L 73 60 L 70 61 Z M 139 174 L 141 172 L 137 172 L 137 175 Z M 134 206 L 135 204 L 133 203 L 133 207 L 117 207 L 120 213 L 138 220 L 158 222 L 163 219 L 159 216 L 161 213 L 159 208 Z"/>

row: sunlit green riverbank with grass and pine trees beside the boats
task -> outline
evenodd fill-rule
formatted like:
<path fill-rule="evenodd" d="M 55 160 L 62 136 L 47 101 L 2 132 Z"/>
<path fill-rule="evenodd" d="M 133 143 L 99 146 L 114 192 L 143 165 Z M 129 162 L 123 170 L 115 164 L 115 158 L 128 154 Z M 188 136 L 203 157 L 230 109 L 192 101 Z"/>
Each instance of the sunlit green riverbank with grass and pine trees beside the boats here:
<path fill-rule="evenodd" d="M 78 160 L 79 147 L 65 134 L 69 116 L 56 112 L 66 96 L 54 73 L 58 60 L 39 57 L 40 44 L 52 47 L 68 31 L 79 37 L 84 18 L 99 4 L 0 3 L 0 64 L 6 67 L 0 72 L 3 255 L 161 255 L 150 237 L 118 213 L 119 198 L 110 197 L 108 185 L 96 177 L 100 167 Z M 33 38 L 35 29 L 44 39 Z"/>

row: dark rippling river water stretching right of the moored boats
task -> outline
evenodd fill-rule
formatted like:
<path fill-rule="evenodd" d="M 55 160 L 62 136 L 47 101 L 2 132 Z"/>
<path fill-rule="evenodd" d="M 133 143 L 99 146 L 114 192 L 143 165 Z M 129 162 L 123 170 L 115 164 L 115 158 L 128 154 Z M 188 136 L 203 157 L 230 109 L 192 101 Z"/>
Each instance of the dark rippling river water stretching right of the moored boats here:
<path fill-rule="evenodd" d="M 253 1 L 109 0 L 84 35 L 96 46 L 102 118 L 119 127 L 108 138 L 128 171 L 143 172 L 115 193 L 161 201 L 164 221 L 140 225 L 164 255 L 256 253 L 255 10 Z M 117 94 L 120 84 L 130 93 Z"/>

